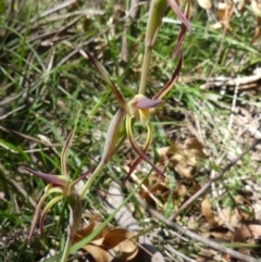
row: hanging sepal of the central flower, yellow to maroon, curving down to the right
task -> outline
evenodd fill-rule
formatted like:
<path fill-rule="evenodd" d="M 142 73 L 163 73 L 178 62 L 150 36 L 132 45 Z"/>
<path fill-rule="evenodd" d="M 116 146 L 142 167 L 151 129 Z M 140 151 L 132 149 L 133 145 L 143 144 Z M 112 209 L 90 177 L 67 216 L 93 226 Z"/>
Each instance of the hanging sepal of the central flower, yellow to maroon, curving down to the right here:
<path fill-rule="evenodd" d="M 126 126 L 127 126 L 127 137 L 128 140 L 132 145 L 132 148 L 135 150 L 135 152 L 142 159 L 145 160 L 148 164 L 151 165 L 151 167 L 153 167 L 160 175 L 164 176 L 164 174 L 162 173 L 161 170 L 159 170 L 158 166 L 156 166 L 150 159 L 142 152 L 142 150 L 137 146 L 135 139 L 134 139 L 134 135 L 133 135 L 133 130 L 132 130 L 132 117 L 127 116 L 126 117 Z M 165 177 L 165 176 L 164 176 Z"/>

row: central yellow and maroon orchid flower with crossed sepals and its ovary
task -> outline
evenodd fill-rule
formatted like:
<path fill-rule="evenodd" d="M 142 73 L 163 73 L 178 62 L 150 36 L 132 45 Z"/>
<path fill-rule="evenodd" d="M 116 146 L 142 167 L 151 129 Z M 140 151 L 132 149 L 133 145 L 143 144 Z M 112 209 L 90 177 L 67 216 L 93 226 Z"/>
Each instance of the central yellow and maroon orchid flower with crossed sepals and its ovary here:
<path fill-rule="evenodd" d="M 171 79 L 152 99 L 149 99 L 149 98 L 145 97 L 144 95 L 138 93 L 132 100 L 129 100 L 128 102 L 125 102 L 123 95 L 117 89 L 117 87 L 113 84 L 113 82 L 110 79 L 108 73 L 102 67 L 102 65 L 87 50 L 85 52 L 88 55 L 88 58 L 90 59 L 90 61 L 94 63 L 96 68 L 99 71 L 99 73 L 107 80 L 107 83 L 109 84 L 109 86 L 112 89 L 112 92 L 115 95 L 119 103 L 122 105 L 122 109 L 123 109 L 123 111 L 121 111 L 122 116 L 119 120 L 116 120 L 116 117 L 115 117 L 116 121 L 112 121 L 111 129 L 113 132 L 110 132 L 110 128 L 109 128 L 109 132 L 107 135 L 107 142 L 105 142 L 104 150 L 103 150 L 103 157 L 102 157 L 103 161 L 107 162 L 113 155 L 113 153 L 116 151 L 115 148 L 119 148 L 119 146 L 117 146 L 119 139 L 115 139 L 115 138 L 116 138 L 117 132 L 125 118 L 126 137 L 128 138 L 128 140 L 132 145 L 132 148 L 138 154 L 138 158 L 133 162 L 125 179 L 127 179 L 129 177 L 129 175 L 137 167 L 137 165 L 140 163 L 141 160 L 145 160 L 160 175 L 164 176 L 162 171 L 159 170 L 159 167 L 156 166 L 151 162 L 151 160 L 146 155 L 146 152 L 148 151 L 148 149 L 152 142 L 152 125 L 150 123 L 150 109 L 159 105 L 161 103 L 161 98 L 165 93 L 167 93 L 167 91 L 173 86 L 173 83 L 176 79 L 176 77 L 178 76 L 181 68 L 182 68 L 182 61 L 183 61 L 182 53 L 179 55 L 179 61 L 178 61 L 177 67 L 174 71 Z M 140 149 L 138 147 L 137 142 L 135 141 L 134 133 L 133 133 L 134 123 L 135 123 L 135 120 L 137 120 L 137 118 L 147 128 L 147 139 L 146 139 L 146 142 L 145 142 L 142 149 Z M 115 128 L 114 125 L 117 126 L 117 128 Z M 110 149 L 110 150 L 108 150 L 108 149 Z"/>

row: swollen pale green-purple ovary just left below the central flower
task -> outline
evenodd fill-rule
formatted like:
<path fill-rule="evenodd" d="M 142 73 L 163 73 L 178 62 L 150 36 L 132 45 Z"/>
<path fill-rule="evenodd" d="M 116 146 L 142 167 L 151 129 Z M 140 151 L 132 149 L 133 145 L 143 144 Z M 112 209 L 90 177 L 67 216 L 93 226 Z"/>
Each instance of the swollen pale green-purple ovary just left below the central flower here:
<path fill-rule="evenodd" d="M 119 132 L 122 127 L 122 123 L 125 118 L 125 115 L 126 111 L 120 109 L 111 121 L 111 124 L 107 133 L 105 145 L 101 158 L 101 161 L 104 163 L 107 163 L 111 159 L 112 152 L 116 147 L 116 142 L 119 141 Z"/>

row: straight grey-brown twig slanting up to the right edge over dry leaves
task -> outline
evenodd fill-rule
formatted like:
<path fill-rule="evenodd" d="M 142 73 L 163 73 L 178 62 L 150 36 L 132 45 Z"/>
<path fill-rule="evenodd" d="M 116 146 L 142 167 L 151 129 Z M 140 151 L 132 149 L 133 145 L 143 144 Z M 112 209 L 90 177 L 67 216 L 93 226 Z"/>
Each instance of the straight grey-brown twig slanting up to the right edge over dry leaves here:
<path fill-rule="evenodd" d="M 197 200 L 199 197 L 201 197 L 211 186 L 212 183 L 219 180 L 227 171 L 232 169 L 233 165 L 235 165 L 239 160 L 241 160 L 248 152 L 254 149 L 254 147 L 261 142 L 261 139 L 257 139 L 252 142 L 252 145 L 246 149 L 243 153 L 240 153 L 234 161 L 232 161 L 229 164 L 227 164 L 221 173 L 209 179 L 201 188 L 198 190 L 191 198 L 189 198 L 176 212 L 174 212 L 170 220 L 174 220 L 177 215 L 179 215 L 185 209 L 187 209 L 195 200 Z"/>

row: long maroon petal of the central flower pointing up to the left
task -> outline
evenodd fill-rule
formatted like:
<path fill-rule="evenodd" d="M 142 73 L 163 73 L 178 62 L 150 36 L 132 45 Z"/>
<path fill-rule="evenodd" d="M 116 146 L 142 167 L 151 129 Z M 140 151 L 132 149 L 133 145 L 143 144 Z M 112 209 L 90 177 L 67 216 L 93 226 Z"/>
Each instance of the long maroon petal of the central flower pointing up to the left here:
<path fill-rule="evenodd" d="M 121 91 L 117 89 L 117 87 L 114 85 L 114 83 L 109 77 L 107 71 L 103 68 L 103 66 L 90 54 L 89 51 L 85 50 L 86 54 L 88 55 L 91 63 L 96 66 L 96 68 L 99 71 L 99 73 L 102 75 L 103 79 L 107 82 L 107 84 L 110 86 L 112 92 L 116 97 L 119 103 L 122 105 L 123 109 L 127 112 L 127 105 L 125 102 L 125 99 Z"/>

